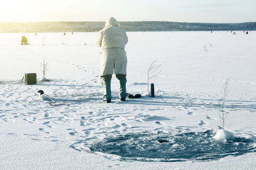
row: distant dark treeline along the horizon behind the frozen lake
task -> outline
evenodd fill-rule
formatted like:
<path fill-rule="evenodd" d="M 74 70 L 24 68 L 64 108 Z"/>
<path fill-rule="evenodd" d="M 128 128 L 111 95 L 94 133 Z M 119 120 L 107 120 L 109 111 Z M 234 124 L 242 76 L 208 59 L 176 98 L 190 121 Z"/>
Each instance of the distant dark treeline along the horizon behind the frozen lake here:
<path fill-rule="evenodd" d="M 0 22 L 0 32 L 88 32 L 99 31 L 105 22 Z M 189 23 L 167 21 L 120 22 L 126 31 L 256 30 L 256 22 Z"/>

